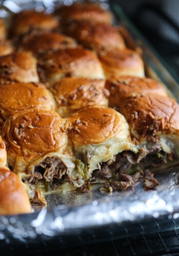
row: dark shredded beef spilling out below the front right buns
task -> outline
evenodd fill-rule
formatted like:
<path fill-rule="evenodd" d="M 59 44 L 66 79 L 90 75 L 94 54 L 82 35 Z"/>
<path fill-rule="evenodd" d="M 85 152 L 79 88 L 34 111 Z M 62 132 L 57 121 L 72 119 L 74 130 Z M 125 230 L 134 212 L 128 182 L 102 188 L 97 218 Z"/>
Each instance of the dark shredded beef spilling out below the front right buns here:
<path fill-rule="evenodd" d="M 138 154 L 124 151 L 106 163 L 100 163 L 93 172 L 92 183 L 97 179 L 108 180 L 104 188 L 108 191 L 124 190 L 133 186 L 139 179 L 143 179 L 144 188 L 152 189 L 159 183 L 153 178 L 148 168 L 160 167 L 171 160 L 172 156 L 161 150 L 161 145 L 156 142 L 149 149 L 141 148 Z M 144 170 L 144 173 L 143 173 Z"/>

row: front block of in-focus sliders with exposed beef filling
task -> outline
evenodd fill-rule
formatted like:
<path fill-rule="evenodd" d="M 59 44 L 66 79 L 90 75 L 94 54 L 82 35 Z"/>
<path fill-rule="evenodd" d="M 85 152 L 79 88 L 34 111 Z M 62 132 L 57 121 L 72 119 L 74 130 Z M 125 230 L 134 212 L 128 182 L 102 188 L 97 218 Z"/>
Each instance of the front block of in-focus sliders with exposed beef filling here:
<path fill-rule="evenodd" d="M 101 95 L 88 90 L 94 82 Z M 158 182 L 149 169 L 177 160 L 179 106 L 152 79 L 63 78 L 50 89 L 13 83 L 0 92 L 5 87 L 14 94 L 14 105 L 0 104 L 7 163 L 33 203 L 46 204 L 43 195 L 58 191 L 88 191 L 99 181 L 112 191 L 143 177 L 153 188 Z"/>

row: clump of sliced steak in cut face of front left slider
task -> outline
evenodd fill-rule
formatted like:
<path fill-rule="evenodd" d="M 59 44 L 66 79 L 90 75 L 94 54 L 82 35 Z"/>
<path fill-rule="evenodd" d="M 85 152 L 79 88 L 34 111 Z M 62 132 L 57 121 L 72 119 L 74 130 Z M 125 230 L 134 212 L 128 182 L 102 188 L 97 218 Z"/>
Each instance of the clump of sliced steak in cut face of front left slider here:
<path fill-rule="evenodd" d="M 43 173 L 43 178 L 49 182 L 54 178 L 61 179 L 67 168 L 58 157 L 47 157 L 43 162 L 37 164 L 34 170 Z"/>

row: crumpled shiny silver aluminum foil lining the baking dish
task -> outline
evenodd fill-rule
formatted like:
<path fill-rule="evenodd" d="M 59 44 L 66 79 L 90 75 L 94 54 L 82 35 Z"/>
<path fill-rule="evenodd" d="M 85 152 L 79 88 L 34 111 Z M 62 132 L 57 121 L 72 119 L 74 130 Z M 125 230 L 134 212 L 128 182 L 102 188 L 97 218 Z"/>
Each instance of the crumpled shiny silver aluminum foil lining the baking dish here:
<path fill-rule="evenodd" d="M 58 3 L 57 3 L 58 2 Z M 45 9 L 52 12 L 59 1 L 3 1 L 0 16 L 7 17 L 10 12 L 19 12 L 23 8 Z M 71 0 L 64 0 L 63 4 L 71 4 Z M 106 7 L 107 3 L 102 1 Z M 177 81 L 164 68 L 153 50 L 149 50 L 148 43 L 133 27 L 119 6 L 112 6 L 117 19 L 127 27 L 132 36 L 144 50 L 148 72 L 153 78 L 162 80 L 179 100 L 179 86 Z M 142 40 L 141 40 L 142 38 Z M 144 42 L 145 41 L 145 42 Z M 27 242 L 37 237 L 52 239 L 54 236 L 76 235 L 76 233 L 101 228 L 106 225 L 117 225 L 118 233 L 128 223 L 128 227 L 139 221 L 167 217 L 179 217 L 179 188 L 178 167 L 170 168 L 155 175 L 160 185 L 155 190 L 144 191 L 141 182 L 135 187 L 124 191 L 107 194 L 101 193 L 99 186 L 95 186 L 87 194 L 77 191 L 49 195 L 48 207 L 34 208 L 28 215 L 1 216 L 0 240 L 9 243 L 11 239 Z M 152 231 L 153 226 L 147 230 Z M 164 227 L 165 229 L 167 227 Z M 125 229 L 126 230 L 126 229 Z M 136 232 L 136 231 L 135 231 Z M 125 233 L 126 235 L 127 233 Z M 122 234 L 123 236 L 124 234 Z"/>

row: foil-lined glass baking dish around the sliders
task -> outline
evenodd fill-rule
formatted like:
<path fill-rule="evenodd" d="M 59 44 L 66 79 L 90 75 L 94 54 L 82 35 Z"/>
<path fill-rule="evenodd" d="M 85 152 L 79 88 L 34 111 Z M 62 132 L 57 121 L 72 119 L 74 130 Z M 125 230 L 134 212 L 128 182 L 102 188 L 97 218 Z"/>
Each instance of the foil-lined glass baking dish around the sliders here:
<path fill-rule="evenodd" d="M 0 15 L 7 16 L 7 1 L 2 1 Z M 53 10 L 58 1 L 8 1 L 16 10 L 38 7 Z M 48 7 L 47 7 L 48 2 Z M 58 3 L 56 3 L 58 2 Z M 6 6 L 5 6 L 6 3 Z M 19 4 L 18 4 L 19 3 Z M 51 3 L 51 4 L 50 4 Z M 104 3 L 103 3 L 104 4 Z M 106 5 L 106 4 L 105 4 Z M 11 12 L 13 5 L 11 5 Z M 162 81 L 179 102 L 179 78 L 172 73 L 149 42 L 139 33 L 117 4 L 110 5 L 116 23 L 127 29 L 135 43 L 143 49 L 146 73 Z M 3 12 L 4 10 L 4 12 Z M 160 185 L 156 190 L 144 191 L 142 184 L 112 194 L 102 194 L 96 186 L 87 194 L 76 191 L 47 196 L 48 207 L 34 208 L 28 215 L 1 216 L 0 240 L 5 243 L 32 243 L 39 239 L 60 237 L 61 246 L 72 246 L 93 239 L 113 236 L 130 237 L 133 234 L 151 233 L 179 228 L 179 188 L 177 166 L 156 174 Z M 170 224 L 167 224 L 170 223 Z M 95 233 L 95 236 L 94 236 Z M 87 240 L 86 240 L 87 239 Z"/>

